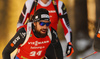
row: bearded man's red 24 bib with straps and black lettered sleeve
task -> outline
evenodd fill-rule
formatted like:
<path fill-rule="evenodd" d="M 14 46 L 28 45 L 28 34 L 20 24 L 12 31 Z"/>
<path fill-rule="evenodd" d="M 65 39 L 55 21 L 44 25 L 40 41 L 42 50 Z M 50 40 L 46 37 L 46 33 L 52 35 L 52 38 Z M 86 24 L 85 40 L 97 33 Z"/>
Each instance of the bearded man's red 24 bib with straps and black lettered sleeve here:
<path fill-rule="evenodd" d="M 55 33 L 52 35 L 48 29 L 47 33 L 49 35 L 47 34 L 46 37 L 39 38 L 33 29 L 32 23 L 21 26 L 4 48 L 2 53 L 3 59 L 11 59 L 10 54 L 16 48 L 18 48 L 16 54 L 18 59 L 44 59 L 46 50 L 52 42 Z"/>

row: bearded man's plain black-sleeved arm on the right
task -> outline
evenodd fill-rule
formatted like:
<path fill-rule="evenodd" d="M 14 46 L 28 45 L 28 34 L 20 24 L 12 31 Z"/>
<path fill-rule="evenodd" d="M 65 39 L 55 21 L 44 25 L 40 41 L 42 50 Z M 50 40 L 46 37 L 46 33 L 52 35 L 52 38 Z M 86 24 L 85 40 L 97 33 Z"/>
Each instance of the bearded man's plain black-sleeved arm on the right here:
<path fill-rule="evenodd" d="M 60 41 L 57 36 L 57 32 L 52 27 L 51 27 L 51 35 L 52 35 L 51 44 L 53 45 L 53 47 L 55 49 L 54 50 L 55 55 L 56 55 L 57 59 L 63 59 L 63 51 L 62 51 L 62 47 L 61 47 Z"/>

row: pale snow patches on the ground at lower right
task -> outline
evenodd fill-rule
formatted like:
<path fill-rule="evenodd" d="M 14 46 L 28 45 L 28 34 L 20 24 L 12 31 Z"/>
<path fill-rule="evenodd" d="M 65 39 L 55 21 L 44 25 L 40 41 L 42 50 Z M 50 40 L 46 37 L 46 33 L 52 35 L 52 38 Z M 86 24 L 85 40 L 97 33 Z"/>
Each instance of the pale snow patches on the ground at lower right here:
<path fill-rule="evenodd" d="M 83 40 L 82 40 L 83 41 Z M 61 42 L 61 45 L 62 45 L 62 47 L 63 47 L 63 54 L 64 54 L 64 59 L 71 59 L 71 56 L 70 57 L 66 57 L 65 56 L 65 51 L 66 51 L 66 41 L 65 40 L 62 40 L 62 41 L 60 41 Z M 85 42 L 85 41 L 84 41 Z M 80 43 L 81 44 L 81 46 L 82 46 L 82 44 L 85 44 L 85 43 Z M 86 42 L 87 43 L 87 42 Z M 83 48 L 83 47 L 81 47 L 81 48 Z M 88 55 L 90 55 L 91 53 L 93 53 L 94 52 L 94 50 L 93 50 L 93 48 L 91 48 L 91 49 L 89 49 L 89 50 L 87 50 L 86 52 L 84 52 L 83 54 L 81 54 L 81 55 L 79 55 L 78 57 L 77 57 L 77 59 L 80 59 L 80 58 L 84 58 L 84 57 L 86 57 L 86 56 L 88 56 Z M 96 53 L 96 54 L 94 54 L 94 55 L 91 55 L 91 56 L 89 56 L 89 57 L 87 57 L 86 59 L 100 59 L 100 53 Z"/>

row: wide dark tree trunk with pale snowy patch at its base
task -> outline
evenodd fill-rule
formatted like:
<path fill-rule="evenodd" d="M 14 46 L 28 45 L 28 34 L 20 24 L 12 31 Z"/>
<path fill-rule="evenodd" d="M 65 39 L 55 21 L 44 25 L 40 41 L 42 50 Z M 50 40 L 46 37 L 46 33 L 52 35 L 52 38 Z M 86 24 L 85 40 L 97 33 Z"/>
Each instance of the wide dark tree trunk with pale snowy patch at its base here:
<path fill-rule="evenodd" d="M 84 53 L 92 46 L 91 43 L 92 40 L 88 35 L 87 0 L 75 0 L 74 17 L 75 17 L 74 20 L 75 32 L 73 33 L 74 36 L 73 45 L 75 51 L 74 54 L 72 55 L 72 59 L 77 59 L 78 55 Z M 82 49 L 80 50 L 81 47 L 77 46 L 77 45 L 81 45 L 80 44 L 81 40 L 90 41 L 88 42 L 89 44 L 86 45 L 83 50 Z"/>

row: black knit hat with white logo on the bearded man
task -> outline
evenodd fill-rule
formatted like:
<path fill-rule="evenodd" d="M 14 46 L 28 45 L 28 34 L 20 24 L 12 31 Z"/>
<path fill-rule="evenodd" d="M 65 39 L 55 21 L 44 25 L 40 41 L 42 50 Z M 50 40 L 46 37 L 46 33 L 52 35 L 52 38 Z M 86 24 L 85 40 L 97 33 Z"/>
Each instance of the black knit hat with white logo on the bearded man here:
<path fill-rule="evenodd" d="M 39 20 L 50 21 L 49 12 L 44 8 L 40 8 L 34 13 L 32 20 L 34 22 L 39 21 Z"/>

